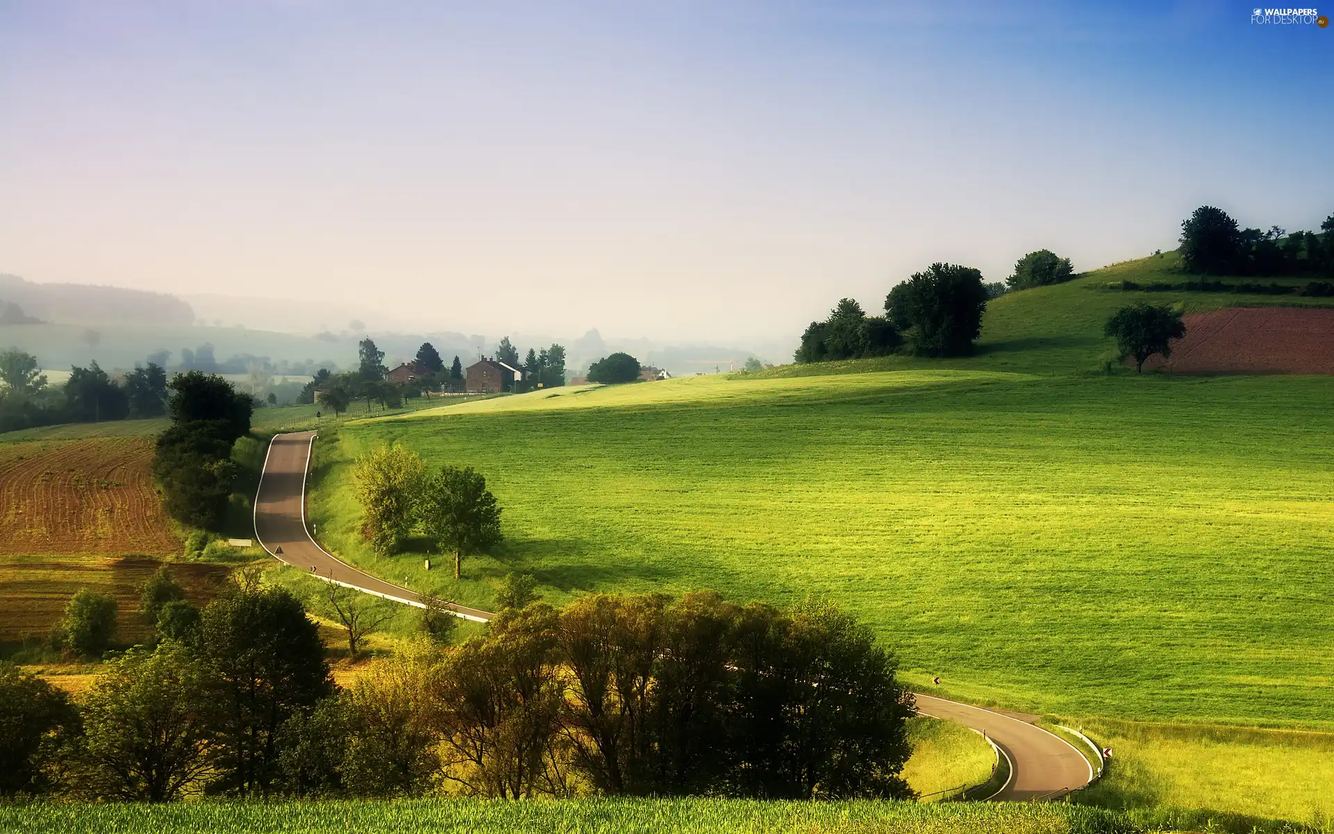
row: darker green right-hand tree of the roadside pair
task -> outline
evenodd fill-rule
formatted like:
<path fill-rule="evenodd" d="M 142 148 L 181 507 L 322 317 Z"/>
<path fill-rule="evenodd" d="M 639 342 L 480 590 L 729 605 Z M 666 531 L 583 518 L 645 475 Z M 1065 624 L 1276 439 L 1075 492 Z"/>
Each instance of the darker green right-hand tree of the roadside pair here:
<path fill-rule="evenodd" d="M 496 544 L 500 507 L 487 490 L 487 479 L 472 467 L 444 466 L 423 490 L 422 522 L 442 552 L 454 551 L 454 578 L 463 574 L 463 556 Z"/>

